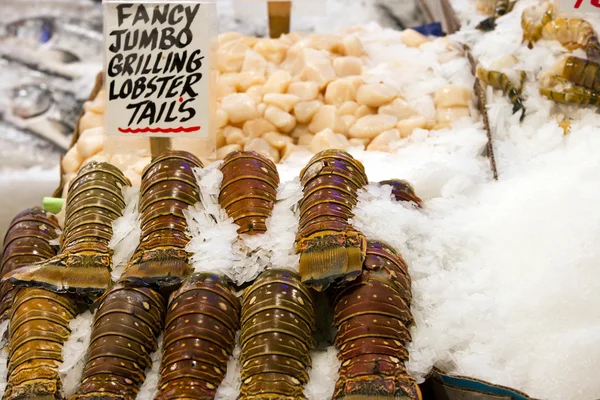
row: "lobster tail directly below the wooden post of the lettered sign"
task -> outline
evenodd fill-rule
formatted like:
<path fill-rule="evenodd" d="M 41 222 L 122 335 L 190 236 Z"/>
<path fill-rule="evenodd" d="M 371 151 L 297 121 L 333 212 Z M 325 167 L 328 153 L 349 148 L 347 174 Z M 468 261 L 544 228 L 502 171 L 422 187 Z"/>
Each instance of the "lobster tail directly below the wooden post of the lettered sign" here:
<path fill-rule="evenodd" d="M 141 242 L 123 282 L 172 287 L 191 272 L 183 212 L 200 201 L 193 169 L 201 167 L 202 162 L 185 151 L 167 151 L 146 167 L 140 188 Z"/>

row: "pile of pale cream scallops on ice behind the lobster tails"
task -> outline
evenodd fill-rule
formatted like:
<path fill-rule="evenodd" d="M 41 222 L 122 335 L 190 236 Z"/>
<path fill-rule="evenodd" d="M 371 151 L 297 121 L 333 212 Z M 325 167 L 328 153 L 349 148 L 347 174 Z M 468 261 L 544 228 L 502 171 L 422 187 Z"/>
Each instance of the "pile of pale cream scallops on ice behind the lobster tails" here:
<path fill-rule="evenodd" d="M 474 125 L 473 76 L 447 38 L 378 25 L 279 39 L 224 33 L 218 39 L 217 158 L 234 150 L 274 162 L 295 151 L 393 152 L 416 131 Z M 87 102 L 79 140 L 64 157 L 65 182 L 92 160 L 110 161 L 134 183 L 150 161 L 147 138 L 126 154 L 104 132 L 105 91 Z M 200 155 L 189 139 L 175 149 Z"/>

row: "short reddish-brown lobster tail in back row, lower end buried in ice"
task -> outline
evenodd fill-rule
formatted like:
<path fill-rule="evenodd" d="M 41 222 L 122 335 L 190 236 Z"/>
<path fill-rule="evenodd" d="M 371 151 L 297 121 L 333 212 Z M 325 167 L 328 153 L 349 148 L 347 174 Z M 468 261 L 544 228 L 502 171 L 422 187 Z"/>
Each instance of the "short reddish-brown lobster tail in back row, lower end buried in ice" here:
<path fill-rule="evenodd" d="M 223 182 L 219 204 L 239 225 L 238 233 L 265 232 L 279 186 L 275 164 L 253 151 L 234 151 L 225 157 L 220 169 Z"/>

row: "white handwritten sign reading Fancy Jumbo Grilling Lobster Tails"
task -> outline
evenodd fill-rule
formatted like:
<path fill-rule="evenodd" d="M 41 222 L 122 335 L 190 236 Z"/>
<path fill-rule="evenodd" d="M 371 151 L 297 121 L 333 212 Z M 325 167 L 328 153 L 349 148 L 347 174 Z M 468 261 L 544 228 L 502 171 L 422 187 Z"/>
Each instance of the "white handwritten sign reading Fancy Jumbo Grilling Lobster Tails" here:
<path fill-rule="evenodd" d="M 105 3 L 112 135 L 209 136 L 214 3 Z"/>

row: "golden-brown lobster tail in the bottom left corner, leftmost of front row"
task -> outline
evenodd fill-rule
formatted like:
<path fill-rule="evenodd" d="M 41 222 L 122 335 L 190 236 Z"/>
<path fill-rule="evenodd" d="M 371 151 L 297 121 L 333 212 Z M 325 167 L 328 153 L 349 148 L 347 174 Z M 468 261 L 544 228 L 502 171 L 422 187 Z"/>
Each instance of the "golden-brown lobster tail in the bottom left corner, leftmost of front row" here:
<path fill-rule="evenodd" d="M 77 315 L 75 301 L 39 288 L 17 291 L 10 316 L 4 400 L 62 399 L 58 365 Z"/>

